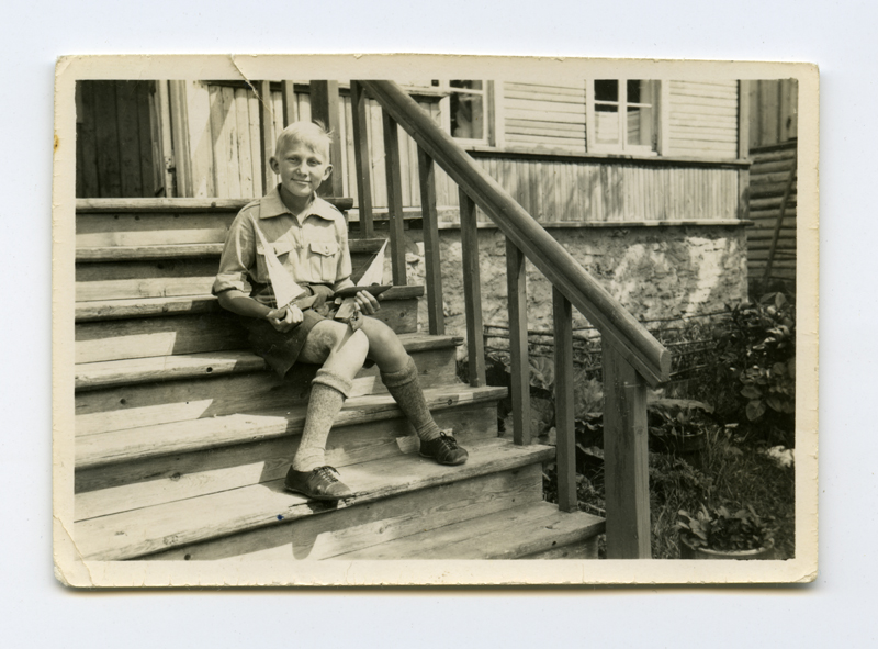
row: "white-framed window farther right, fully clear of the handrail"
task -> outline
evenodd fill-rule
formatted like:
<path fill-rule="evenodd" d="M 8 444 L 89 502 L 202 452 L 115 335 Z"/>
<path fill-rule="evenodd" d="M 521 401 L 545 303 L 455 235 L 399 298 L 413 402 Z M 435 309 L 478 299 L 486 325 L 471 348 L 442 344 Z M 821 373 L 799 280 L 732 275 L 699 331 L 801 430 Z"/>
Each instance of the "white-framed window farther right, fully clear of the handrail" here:
<path fill-rule="evenodd" d="M 658 81 L 593 79 L 586 82 L 589 152 L 655 155 Z"/>

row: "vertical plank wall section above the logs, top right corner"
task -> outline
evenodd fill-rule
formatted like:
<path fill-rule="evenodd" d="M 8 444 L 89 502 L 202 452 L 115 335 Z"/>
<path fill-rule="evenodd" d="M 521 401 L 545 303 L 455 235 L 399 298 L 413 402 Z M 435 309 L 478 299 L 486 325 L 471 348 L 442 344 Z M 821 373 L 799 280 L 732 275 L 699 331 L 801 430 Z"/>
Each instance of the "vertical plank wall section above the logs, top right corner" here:
<path fill-rule="evenodd" d="M 799 134 L 799 81 L 767 79 L 750 85 L 750 146 L 772 146 Z"/>

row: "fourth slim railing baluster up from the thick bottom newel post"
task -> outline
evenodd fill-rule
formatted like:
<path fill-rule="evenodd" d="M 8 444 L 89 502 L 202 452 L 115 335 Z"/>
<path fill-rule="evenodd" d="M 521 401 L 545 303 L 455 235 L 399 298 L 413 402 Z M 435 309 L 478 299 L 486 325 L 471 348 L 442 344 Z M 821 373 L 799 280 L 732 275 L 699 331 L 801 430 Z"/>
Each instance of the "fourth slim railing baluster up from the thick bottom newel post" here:
<path fill-rule="evenodd" d="M 436 165 L 418 146 L 418 176 L 420 177 L 420 212 L 424 220 L 424 262 L 427 280 L 427 315 L 430 334 L 446 333 L 442 307 L 442 270 L 439 260 L 439 214 L 436 211 Z"/>

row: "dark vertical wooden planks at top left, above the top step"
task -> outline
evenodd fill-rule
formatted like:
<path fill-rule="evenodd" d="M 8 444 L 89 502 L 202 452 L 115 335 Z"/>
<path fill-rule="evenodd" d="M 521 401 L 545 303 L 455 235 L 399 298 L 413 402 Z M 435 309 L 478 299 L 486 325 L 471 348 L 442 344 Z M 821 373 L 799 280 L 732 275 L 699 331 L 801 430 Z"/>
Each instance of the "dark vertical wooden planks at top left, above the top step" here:
<path fill-rule="evenodd" d="M 153 147 L 154 83 L 77 82 L 78 198 L 151 198 L 161 190 Z"/>

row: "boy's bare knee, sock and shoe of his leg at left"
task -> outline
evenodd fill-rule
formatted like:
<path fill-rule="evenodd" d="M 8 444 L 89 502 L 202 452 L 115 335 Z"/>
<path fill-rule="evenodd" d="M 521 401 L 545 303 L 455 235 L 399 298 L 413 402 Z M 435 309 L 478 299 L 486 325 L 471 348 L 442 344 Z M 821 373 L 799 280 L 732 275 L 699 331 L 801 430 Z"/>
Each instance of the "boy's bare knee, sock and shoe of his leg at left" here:
<path fill-rule="evenodd" d="M 305 428 L 286 477 L 286 486 L 314 499 L 336 500 L 350 490 L 326 467 L 326 439 L 353 377 L 362 368 L 369 340 L 347 325 L 324 321 L 312 329 L 300 353 L 302 362 L 323 362 L 312 381 Z"/>

